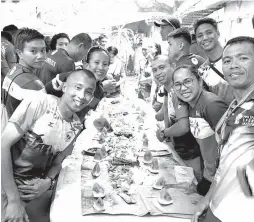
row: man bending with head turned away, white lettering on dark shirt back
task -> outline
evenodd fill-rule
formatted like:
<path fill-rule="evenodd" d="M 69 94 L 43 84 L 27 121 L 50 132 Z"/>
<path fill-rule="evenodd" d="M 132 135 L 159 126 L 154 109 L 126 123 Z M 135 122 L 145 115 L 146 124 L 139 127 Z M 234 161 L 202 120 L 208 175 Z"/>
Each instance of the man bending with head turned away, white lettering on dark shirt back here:
<path fill-rule="evenodd" d="M 92 45 L 91 37 L 86 33 L 75 35 L 65 49 L 57 49 L 47 55 L 39 78 L 47 84 L 57 74 L 75 70 L 75 62 L 81 61 Z"/>

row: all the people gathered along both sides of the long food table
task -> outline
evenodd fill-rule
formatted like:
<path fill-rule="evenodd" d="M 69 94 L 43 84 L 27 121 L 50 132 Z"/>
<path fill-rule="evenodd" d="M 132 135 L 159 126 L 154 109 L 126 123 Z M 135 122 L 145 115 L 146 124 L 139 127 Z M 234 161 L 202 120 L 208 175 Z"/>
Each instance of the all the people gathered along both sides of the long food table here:
<path fill-rule="evenodd" d="M 240 220 L 251 213 L 245 206 L 254 195 L 254 38 L 236 37 L 223 47 L 217 22 L 199 19 L 193 29 L 203 58 L 191 52 L 192 35 L 178 19 L 155 25 L 168 54 L 159 44 L 142 46 L 137 96 L 164 121 L 158 139 L 170 140 L 193 168 L 205 196 L 193 221 Z M 61 163 L 89 110 L 120 94 L 125 66 L 116 47 L 106 48 L 106 35 L 92 41 L 86 33 L 72 39 L 59 33 L 46 44 L 37 30 L 21 28 L 4 29 L 1 39 L 2 109 L 9 118 L 1 138 L 2 218 L 49 221 Z"/>

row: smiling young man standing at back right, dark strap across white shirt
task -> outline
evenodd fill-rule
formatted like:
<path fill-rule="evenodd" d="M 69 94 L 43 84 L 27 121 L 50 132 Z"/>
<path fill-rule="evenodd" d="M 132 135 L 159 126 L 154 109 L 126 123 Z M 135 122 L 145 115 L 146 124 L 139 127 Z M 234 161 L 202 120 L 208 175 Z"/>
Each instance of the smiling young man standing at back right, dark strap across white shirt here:
<path fill-rule="evenodd" d="M 234 99 L 232 87 L 224 80 L 222 73 L 222 51 L 219 42 L 217 22 L 212 18 L 202 18 L 194 23 L 197 44 L 204 50 L 208 60 L 199 72 L 209 90 L 223 98 L 227 103 Z"/>

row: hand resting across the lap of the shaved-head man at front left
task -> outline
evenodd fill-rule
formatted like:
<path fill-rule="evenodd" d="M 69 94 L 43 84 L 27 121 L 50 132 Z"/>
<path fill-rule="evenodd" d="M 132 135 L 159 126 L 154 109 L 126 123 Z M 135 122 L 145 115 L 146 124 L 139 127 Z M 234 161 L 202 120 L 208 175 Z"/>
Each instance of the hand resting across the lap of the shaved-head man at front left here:
<path fill-rule="evenodd" d="M 18 190 L 22 200 L 33 200 L 40 197 L 51 186 L 50 179 L 34 179 L 32 181 L 25 181 L 25 185 L 19 185 Z"/>

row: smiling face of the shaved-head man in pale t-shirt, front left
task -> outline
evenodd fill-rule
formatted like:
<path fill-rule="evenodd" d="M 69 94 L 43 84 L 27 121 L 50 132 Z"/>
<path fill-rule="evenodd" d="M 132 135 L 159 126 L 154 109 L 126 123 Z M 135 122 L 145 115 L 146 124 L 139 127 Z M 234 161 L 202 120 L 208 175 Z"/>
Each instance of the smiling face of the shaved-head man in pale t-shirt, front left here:
<path fill-rule="evenodd" d="M 63 99 L 68 108 L 76 113 L 85 108 L 93 99 L 96 81 L 86 75 L 75 75 L 70 81 L 64 83 Z"/>

